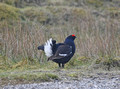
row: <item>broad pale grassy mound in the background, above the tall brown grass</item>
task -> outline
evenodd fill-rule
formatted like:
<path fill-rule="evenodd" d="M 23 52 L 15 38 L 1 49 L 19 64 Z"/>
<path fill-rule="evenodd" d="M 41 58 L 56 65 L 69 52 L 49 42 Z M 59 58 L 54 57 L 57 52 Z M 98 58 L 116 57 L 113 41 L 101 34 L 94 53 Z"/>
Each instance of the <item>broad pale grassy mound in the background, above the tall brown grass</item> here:
<path fill-rule="evenodd" d="M 85 18 L 87 16 L 85 9 L 77 7 L 69 8 L 68 6 L 27 7 L 21 9 L 21 11 L 30 21 L 37 21 L 47 25 L 59 24 L 60 19 L 64 22 L 68 22 L 70 19 L 75 19 L 75 17 Z"/>

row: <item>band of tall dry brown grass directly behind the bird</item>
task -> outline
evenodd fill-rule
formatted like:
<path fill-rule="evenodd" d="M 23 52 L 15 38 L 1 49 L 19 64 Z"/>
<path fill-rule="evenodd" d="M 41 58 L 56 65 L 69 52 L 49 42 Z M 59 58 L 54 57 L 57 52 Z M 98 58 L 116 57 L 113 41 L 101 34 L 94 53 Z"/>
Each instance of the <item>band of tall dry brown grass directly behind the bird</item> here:
<path fill-rule="evenodd" d="M 116 20 L 89 19 L 67 23 L 63 26 L 46 27 L 44 25 L 28 25 L 16 23 L 13 28 L 5 27 L 1 30 L 2 54 L 16 58 L 38 57 L 40 51 L 37 46 L 43 44 L 50 37 L 63 42 L 69 34 L 76 34 L 75 41 L 78 55 L 84 56 L 119 56 L 119 23 Z"/>

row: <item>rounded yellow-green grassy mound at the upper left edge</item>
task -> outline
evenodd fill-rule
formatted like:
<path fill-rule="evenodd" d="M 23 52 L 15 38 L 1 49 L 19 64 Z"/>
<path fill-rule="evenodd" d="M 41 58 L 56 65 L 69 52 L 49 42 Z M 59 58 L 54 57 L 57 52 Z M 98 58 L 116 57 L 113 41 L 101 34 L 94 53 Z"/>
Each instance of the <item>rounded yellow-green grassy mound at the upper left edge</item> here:
<path fill-rule="evenodd" d="M 11 5 L 0 3 L 0 30 L 5 27 L 12 27 L 21 19 L 20 10 Z"/>

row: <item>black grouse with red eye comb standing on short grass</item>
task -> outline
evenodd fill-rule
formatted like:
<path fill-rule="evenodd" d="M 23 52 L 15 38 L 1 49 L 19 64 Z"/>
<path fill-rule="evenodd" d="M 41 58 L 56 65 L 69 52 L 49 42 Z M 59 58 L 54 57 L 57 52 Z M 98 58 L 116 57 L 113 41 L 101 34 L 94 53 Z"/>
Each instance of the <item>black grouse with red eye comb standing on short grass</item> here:
<path fill-rule="evenodd" d="M 44 45 L 38 47 L 38 50 L 43 50 L 48 57 L 48 61 L 52 60 L 58 63 L 59 67 L 64 65 L 72 58 L 75 53 L 75 40 L 76 36 L 68 36 L 64 43 L 57 43 L 50 38 Z"/>

